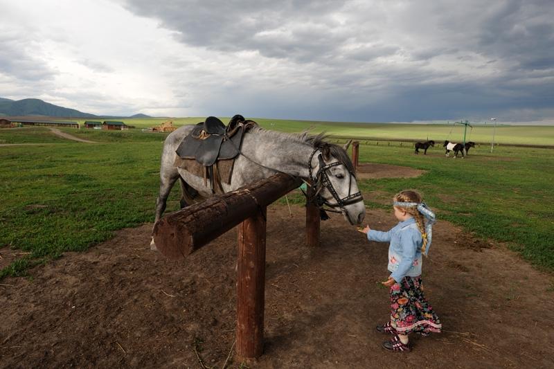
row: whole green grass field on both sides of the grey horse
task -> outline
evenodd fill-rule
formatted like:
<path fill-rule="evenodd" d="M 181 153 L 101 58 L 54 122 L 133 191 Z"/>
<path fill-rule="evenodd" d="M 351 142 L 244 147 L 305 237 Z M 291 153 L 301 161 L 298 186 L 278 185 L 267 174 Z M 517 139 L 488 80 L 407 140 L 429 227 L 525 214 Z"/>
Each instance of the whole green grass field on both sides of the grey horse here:
<path fill-rule="evenodd" d="M 296 124 L 284 130 L 294 132 Z M 332 127 L 325 130 L 341 132 Z M 0 248 L 28 253 L 2 269 L 0 278 L 24 275 L 28 267 L 64 251 L 85 250 L 120 228 L 153 220 L 166 134 L 64 130 L 101 143 L 49 137 L 44 128 L 0 132 L 0 139 L 10 143 L 49 143 L 0 147 Z M 415 179 L 360 181 L 366 205 L 388 208 L 383 204 L 395 192 L 418 189 L 440 219 L 503 242 L 537 267 L 554 271 L 551 149 L 500 145 L 491 154 L 490 146 L 478 145 L 467 159 L 447 159 L 442 147 L 416 156 L 409 143 L 366 142 L 360 145 L 362 162 L 427 170 Z M 169 211 L 177 210 L 177 196 L 176 188 Z M 301 201 L 298 195 L 291 198 Z"/>

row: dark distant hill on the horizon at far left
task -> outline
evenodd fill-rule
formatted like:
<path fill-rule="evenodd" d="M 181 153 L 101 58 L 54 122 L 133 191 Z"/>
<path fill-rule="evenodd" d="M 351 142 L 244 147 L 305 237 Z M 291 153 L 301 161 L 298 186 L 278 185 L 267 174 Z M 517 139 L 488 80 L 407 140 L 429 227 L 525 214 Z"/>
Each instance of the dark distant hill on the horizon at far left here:
<path fill-rule="evenodd" d="M 39 99 L 10 100 L 0 98 L 0 115 L 3 116 L 54 116 L 66 118 L 96 117 L 75 109 L 58 107 Z"/>

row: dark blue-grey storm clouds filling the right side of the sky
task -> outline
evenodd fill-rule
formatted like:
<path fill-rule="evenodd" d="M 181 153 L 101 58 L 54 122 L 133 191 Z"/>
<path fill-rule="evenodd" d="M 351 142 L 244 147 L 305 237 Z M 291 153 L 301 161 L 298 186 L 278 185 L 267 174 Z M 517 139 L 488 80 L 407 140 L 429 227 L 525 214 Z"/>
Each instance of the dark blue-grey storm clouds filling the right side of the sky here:
<path fill-rule="evenodd" d="M 159 19 L 184 44 L 313 65 L 303 78 L 314 89 L 304 87 L 302 117 L 413 120 L 552 105 L 549 1 L 128 0 L 125 6 Z M 296 110 L 278 93 L 254 98 L 265 104 L 259 110 Z"/>

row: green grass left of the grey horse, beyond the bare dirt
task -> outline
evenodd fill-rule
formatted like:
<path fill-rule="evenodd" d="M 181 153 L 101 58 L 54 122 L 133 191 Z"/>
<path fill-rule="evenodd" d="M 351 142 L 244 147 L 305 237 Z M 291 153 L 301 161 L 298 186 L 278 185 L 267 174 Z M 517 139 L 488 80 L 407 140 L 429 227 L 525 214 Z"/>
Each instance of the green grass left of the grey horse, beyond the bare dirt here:
<path fill-rule="evenodd" d="M 3 269 L 0 278 L 21 276 L 37 260 L 86 250 L 120 228 L 153 220 L 161 143 L 9 150 L 0 170 L 0 246 L 30 255 Z M 177 192 L 168 211 L 178 208 Z"/>

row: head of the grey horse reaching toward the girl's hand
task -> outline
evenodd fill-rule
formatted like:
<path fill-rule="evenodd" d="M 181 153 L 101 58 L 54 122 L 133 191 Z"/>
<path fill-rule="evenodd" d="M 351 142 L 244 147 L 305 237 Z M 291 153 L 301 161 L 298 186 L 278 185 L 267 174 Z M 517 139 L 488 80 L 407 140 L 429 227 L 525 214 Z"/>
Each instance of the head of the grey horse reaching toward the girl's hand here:
<path fill-rule="evenodd" d="M 316 139 L 310 165 L 310 177 L 319 190 L 320 205 L 340 211 L 350 224 L 361 224 L 366 206 L 346 150 Z"/>

